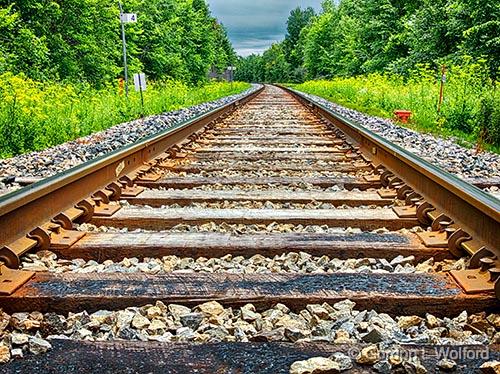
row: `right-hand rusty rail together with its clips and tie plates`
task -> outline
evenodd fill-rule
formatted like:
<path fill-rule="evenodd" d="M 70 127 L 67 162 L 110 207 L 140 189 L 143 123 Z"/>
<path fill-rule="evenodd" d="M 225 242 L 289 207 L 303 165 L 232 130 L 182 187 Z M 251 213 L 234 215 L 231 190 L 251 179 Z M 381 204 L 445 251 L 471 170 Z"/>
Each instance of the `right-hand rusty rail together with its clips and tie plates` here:
<path fill-rule="evenodd" d="M 391 187 L 400 199 L 406 199 L 408 206 L 403 211 L 399 210 L 399 213 L 417 216 L 422 224 L 432 227 L 434 234 L 427 235 L 424 239 L 431 244 L 432 240 L 434 244 L 446 243 L 456 256 L 472 256 L 470 269 L 480 268 L 484 258 L 495 259 L 496 262 L 488 260 L 488 266 L 483 266 L 483 270 L 493 270 L 490 271 L 491 278 L 488 272 L 483 271 L 485 276 L 475 280 L 479 286 L 484 285 L 484 282 L 497 280 L 500 272 L 500 200 L 312 101 L 304 94 L 288 87 L 280 87 L 333 123 L 349 142 L 359 147 L 358 152 L 362 157 L 380 170 L 383 185 Z M 465 274 L 463 278 L 470 278 L 469 275 L 475 276 Z M 477 283 L 457 280 L 466 290 L 478 287 Z M 496 283 L 497 295 L 500 296 L 500 283 Z"/>

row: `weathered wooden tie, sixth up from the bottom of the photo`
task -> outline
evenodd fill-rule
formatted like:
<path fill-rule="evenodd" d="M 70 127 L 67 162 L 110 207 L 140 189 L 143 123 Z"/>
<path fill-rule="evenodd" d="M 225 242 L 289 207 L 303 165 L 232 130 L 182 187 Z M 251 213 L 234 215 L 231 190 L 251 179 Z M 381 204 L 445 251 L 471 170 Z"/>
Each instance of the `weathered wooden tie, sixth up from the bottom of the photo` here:
<path fill-rule="evenodd" d="M 291 184 L 311 184 L 317 187 L 328 188 L 333 186 L 339 186 L 340 188 L 345 188 L 348 190 L 360 189 L 367 190 L 369 188 L 381 188 L 382 184 L 380 182 L 367 182 L 362 178 L 355 177 L 201 177 L 201 176 L 189 176 L 189 177 L 176 177 L 176 178 L 163 178 L 156 182 L 141 182 L 137 181 L 140 186 L 145 186 L 149 188 L 193 188 L 211 184 L 221 184 L 227 186 L 236 185 L 291 185 Z"/>

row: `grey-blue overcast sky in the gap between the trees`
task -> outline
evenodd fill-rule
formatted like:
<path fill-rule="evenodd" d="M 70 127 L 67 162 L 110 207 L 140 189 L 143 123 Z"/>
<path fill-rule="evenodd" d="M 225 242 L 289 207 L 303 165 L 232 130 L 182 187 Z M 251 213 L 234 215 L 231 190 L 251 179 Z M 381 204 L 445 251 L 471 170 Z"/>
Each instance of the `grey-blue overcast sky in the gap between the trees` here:
<path fill-rule="evenodd" d="M 297 6 L 320 9 L 321 0 L 208 0 L 212 14 L 226 26 L 241 56 L 264 52 L 282 40 L 286 20 Z"/>

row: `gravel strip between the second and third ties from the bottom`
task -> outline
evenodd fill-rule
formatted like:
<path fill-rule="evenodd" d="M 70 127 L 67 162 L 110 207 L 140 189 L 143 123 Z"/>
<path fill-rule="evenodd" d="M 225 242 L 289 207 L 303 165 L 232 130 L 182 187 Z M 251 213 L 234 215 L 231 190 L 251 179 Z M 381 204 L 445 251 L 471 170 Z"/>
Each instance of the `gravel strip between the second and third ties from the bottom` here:
<path fill-rule="evenodd" d="M 232 273 L 232 274 L 333 274 L 333 273 L 430 273 L 435 271 L 460 270 L 466 259 L 435 263 L 429 259 L 415 262 L 414 256 L 398 256 L 392 261 L 374 258 L 340 260 L 329 256 L 312 256 L 304 252 L 290 252 L 274 257 L 254 255 L 250 258 L 228 254 L 221 258 L 191 258 L 164 256 L 162 258 L 124 258 L 114 262 L 106 260 L 58 259 L 55 253 L 40 251 L 22 258 L 22 268 L 51 273 Z"/>

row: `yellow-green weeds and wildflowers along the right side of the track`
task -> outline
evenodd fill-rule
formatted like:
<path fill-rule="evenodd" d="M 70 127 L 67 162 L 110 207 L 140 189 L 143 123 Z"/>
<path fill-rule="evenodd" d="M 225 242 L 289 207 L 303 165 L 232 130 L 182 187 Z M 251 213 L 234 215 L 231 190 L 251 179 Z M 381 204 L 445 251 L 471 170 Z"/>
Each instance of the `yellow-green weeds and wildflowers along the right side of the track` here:
<path fill-rule="evenodd" d="M 452 67 L 437 112 L 440 77 L 422 68 L 410 77 L 370 74 L 309 81 L 291 87 L 367 114 L 394 118 L 394 110 L 411 110 L 407 127 L 462 144 L 500 153 L 500 92 L 478 64 Z"/>

